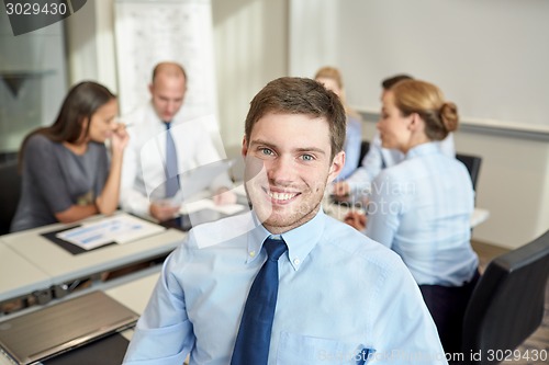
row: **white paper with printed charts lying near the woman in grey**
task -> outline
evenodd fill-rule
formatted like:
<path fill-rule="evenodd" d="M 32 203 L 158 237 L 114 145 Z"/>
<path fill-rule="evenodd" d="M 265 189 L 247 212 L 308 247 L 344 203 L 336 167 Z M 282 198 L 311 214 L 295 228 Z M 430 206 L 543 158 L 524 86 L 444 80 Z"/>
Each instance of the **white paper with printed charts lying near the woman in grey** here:
<path fill-rule="evenodd" d="M 139 238 L 156 235 L 166 228 L 144 219 L 119 215 L 99 221 L 65 230 L 56 236 L 85 250 L 91 250 L 107 243 L 126 243 Z"/>

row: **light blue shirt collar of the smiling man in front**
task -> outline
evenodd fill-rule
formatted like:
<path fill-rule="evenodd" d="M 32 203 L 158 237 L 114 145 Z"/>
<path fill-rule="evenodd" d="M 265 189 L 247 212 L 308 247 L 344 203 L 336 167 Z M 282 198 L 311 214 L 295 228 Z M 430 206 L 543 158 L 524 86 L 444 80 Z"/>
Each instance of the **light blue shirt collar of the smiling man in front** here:
<path fill-rule="evenodd" d="M 271 233 L 258 223 L 259 220 L 255 212 L 253 216 L 256 223 L 256 228 L 248 235 L 247 263 L 259 256 L 264 241 L 267 237 L 271 236 Z M 294 270 L 300 269 L 307 254 L 321 240 L 325 223 L 326 215 L 321 208 L 310 221 L 280 235 L 288 246 L 288 258 Z"/>

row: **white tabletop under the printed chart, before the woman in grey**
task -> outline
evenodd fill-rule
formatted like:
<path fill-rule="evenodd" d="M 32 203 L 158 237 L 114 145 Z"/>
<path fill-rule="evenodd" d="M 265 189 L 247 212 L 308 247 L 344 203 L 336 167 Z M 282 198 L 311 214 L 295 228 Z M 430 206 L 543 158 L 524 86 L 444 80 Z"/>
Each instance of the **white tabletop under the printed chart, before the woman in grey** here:
<path fill-rule="evenodd" d="M 119 212 L 116 215 L 127 214 Z M 86 221 L 101 219 L 102 216 L 96 216 Z M 187 236 L 182 230 L 167 228 L 127 243 L 108 244 L 76 254 L 48 235 L 74 226 L 55 224 L 0 237 L 0 303 L 25 295 L 38 296 L 38 300 L 47 303 L 67 294 L 63 290 L 77 281 L 94 283 L 104 273 L 161 260 Z"/>

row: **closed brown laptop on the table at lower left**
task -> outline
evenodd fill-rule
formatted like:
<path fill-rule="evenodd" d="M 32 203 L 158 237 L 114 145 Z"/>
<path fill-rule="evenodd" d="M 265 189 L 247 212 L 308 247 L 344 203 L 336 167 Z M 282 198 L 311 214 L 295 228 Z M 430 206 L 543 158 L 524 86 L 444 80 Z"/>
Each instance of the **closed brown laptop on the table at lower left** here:
<path fill-rule="evenodd" d="M 92 292 L 0 322 L 0 350 L 27 365 L 135 324 L 138 315 L 103 292 Z"/>

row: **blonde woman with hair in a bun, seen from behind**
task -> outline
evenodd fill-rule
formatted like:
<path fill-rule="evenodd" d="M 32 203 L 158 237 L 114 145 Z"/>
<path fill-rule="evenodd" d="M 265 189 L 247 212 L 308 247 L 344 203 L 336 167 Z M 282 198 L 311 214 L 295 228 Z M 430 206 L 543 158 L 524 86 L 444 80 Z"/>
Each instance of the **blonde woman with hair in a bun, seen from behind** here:
<path fill-rule="evenodd" d="M 374 179 L 368 217 L 351 226 L 399 253 L 419 285 L 446 352 L 459 352 L 461 323 L 479 278 L 470 244 L 474 192 L 467 168 L 436 141 L 459 124 L 457 106 L 434 84 L 396 83 L 383 94 L 378 130 L 383 148 L 404 160 Z"/>

